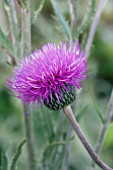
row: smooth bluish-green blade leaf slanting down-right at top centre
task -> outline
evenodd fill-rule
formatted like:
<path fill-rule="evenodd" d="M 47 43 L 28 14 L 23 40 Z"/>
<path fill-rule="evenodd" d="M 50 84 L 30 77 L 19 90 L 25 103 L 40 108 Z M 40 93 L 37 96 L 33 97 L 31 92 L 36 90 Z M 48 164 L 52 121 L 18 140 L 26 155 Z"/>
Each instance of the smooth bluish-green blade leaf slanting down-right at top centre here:
<path fill-rule="evenodd" d="M 67 39 L 71 38 L 71 32 L 68 23 L 66 22 L 57 2 L 55 0 L 51 0 L 51 3 L 53 5 L 55 14 L 58 18 L 58 21 L 63 29 L 64 35 L 66 36 Z"/>

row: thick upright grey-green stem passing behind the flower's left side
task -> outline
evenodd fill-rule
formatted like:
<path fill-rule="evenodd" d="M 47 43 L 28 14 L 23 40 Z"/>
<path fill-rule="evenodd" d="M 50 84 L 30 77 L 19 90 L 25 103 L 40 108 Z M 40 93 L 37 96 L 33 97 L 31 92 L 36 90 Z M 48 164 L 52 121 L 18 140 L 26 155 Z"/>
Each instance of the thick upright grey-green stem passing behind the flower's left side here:
<path fill-rule="evenodd" d="M 26 0 L 26 8 L 27 10 L 22 11 L 23 12 L 23 18 L 22 18 L 23 49 L 21 54 L 23 54 L 23 56 L 27 56 L 31 53 L 30 0 Z M 31 113 L 29 112 L 29 107 L 27 105 L 24 105 L 24 123 L 25 123 L 25 133 L 27 138 L 29 170 L 36 170 L 34 143 L 33 143 L 33 135 L 32 135 L 33 132 L 31 126 L 32 119 L 31 119 Z"/>

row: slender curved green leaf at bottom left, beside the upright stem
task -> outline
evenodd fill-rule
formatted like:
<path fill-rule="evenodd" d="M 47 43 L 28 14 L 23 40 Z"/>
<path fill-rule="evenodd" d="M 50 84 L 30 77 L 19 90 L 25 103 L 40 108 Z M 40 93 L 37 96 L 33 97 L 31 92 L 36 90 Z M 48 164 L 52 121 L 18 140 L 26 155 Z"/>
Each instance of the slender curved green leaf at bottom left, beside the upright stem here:
<path fill-rule="evenodd" d="M 18 161 L 18 159 L 19 159 L 19 157 L 20 157 L 20 155 L 21 155 L 21 153 L 22 153 L 22 147 L 23 147 L 23 145 L 24 145 L 25 143 L 26 143 L 26 139 L 24 139 L 24 140 L 20 143 L 20 145 L 18 146 L 17 151 L 16 151 L 16 153 L 15 153 L 15 156 L 14 156 L 14 158 L 13 158 L 13 160 L 12 160 L 12 164 L 11 164 L 10 170 L 15 170 L 15 169 L 16 169 L 17 161 Z"/>

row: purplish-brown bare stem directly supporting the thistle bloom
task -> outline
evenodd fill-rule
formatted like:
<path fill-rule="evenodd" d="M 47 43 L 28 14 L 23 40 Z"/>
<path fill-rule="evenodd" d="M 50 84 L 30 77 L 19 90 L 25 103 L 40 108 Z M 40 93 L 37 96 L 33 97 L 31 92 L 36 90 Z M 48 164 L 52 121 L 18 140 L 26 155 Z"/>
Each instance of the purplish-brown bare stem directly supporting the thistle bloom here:
<path fill-rule="evenodd" d="M 79 137 L 80 141 L 82 142 L 82 144 L 84 145 L 84 147 L 86 148 L 86 150 L 88 151 L 89 155 L 94 160 L 94 162 L 103 170 L 113 170 L 112 168 L 107 166 L 104 162 L 102 162 L 100 160 L 100 158 L 98 157 L 98 155 L 94 152 L 94 150 L 90 146 L 89 142 L 87 141 L 83 131 L 81 130 L 77 120 L 75 119 L 74 114 L 73 114 L 70 106 L 67 106 L 67 107 L 64 108 L 64 113 L 66 114 L 71 125 L 73 126 L 73 129 L 77 133 L 77 136 Z"/>

